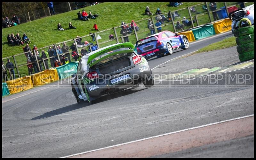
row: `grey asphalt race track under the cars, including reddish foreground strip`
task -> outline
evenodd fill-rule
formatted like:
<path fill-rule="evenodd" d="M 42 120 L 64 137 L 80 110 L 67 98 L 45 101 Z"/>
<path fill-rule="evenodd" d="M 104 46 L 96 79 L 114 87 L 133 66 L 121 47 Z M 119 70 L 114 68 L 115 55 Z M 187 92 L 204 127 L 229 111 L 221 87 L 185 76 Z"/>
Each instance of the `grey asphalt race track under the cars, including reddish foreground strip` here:
<path fill-rule="evenodd" d="M 230 36 L 231 31 L 191 43 L 188 50 L 149 59 L 149 66 L 160 74 L 236 64 L 235 47 L 177 58 Z M 70 80 L 6 96 L 2 157 L 254 157 L 253 72 L 249 66 L 220 73 L 224 79 L 217 85 L 209 85 L 210 76 L 189 83 L 156 80 L 153 87 L 128 89 L 92 105 L 76 103 Z M 227 85 L 236 73 L 251 79 Z M 106 149 L 75 155 L 101 148 Z"/>

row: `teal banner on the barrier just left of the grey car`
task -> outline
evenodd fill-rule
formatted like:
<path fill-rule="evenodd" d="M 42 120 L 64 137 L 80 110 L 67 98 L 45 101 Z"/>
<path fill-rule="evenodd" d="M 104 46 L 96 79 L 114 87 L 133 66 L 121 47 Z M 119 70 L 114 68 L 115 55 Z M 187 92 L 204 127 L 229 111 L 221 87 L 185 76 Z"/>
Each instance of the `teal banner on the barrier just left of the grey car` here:
<path fill-rule="evenodd" d="M 72 74 L 76 73 L 78 62 L 69 62 L 66 65 L 56 67 L 59 79 L 64 79 L 70 77 Z"/>

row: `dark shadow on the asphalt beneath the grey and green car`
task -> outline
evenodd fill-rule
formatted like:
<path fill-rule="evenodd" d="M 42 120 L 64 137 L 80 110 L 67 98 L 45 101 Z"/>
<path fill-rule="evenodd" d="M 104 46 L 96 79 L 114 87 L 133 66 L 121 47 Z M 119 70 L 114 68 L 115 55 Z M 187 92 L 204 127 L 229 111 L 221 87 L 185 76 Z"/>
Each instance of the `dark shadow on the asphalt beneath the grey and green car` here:
<path fill-rule="evenodd" d="M 118 98 L 118 97 L 122 97 L 122 96 L 125 96 L 125 95 L 128 95 L 128 94 L 132 94 L 132 93 L 144 90 L 144 89 L 147 89 L 147 88 L 142 88 L 140 90 L 132 90 L 132 88 L 131 88 L 131 89 L 128 89 L 128 90 L 125 90 L 125 91 L 117 92 L 118 94 L 115 93 L 115 94 L 106 95 L 106 96 L 103 96 L 100 99 L 94 101 L 92 104 L 90 104 L 88 101 L 84 101 L 83 103 L 80 103 L 80 104 L 77 104 L 77 103 L 72 104 L 72 105 L 69 105 L 69 106 L 66 106 L 66 107 L 62 107 L 62 108 L 59 108 L 59 109 L 52 110 L 50 112 L 46 112 L 43 115 L 39 115 L 37 117 L 31 118 L 31 120 L 44 119 L 44 118 L 52 117 L 54 115 L 60 115 L 62 113 L 66 113 L 66 112 L 69 112 L 69 111 L 80 109 L 80 108 L 83 108 L 83 107 L 86 107 L 86 106 L 91 106 L 91 105 L 94 105 L 94 104 L 97 104 L 97 103 L 100 103 L 100 102 L 112 100 L 112 99 L 115 99 L 115 98 Z"/>

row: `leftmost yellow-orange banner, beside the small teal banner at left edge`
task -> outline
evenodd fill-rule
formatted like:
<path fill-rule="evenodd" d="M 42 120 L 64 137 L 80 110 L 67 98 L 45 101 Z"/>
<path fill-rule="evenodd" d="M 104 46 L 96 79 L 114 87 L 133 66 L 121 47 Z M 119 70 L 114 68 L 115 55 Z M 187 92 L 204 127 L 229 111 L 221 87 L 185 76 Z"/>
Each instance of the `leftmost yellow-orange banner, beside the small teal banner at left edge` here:
<path fill-rule="evenodd" d="M 10 94 L 18 93 L 33 88 L 31 76 L 6 81 Z"/>

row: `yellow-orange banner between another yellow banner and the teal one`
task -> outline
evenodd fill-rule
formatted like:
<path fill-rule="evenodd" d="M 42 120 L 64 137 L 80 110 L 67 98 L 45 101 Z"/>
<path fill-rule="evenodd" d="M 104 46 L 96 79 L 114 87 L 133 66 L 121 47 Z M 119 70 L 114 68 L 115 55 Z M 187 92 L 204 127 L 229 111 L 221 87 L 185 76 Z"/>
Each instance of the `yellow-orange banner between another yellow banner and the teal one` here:
<path fill-rule="evenodd" d="M 57 69 L 48 69 L 39 73 L 32 74 L 32 81 L 34 86 L 42 86 L 47 83 L 59 80 Z"/>

